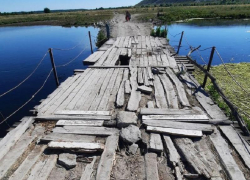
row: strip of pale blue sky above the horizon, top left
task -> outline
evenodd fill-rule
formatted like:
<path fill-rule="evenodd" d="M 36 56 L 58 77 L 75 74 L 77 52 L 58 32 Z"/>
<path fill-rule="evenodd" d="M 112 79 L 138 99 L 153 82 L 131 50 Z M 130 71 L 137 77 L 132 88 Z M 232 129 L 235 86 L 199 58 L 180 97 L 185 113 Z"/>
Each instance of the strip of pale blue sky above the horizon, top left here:
<path fill-rule="evenodd" d="M 99 7 L 131 6 L 141 0 L 0 0 L 0 12 L 39 11 L 56 9 L 95 9 Z"/>

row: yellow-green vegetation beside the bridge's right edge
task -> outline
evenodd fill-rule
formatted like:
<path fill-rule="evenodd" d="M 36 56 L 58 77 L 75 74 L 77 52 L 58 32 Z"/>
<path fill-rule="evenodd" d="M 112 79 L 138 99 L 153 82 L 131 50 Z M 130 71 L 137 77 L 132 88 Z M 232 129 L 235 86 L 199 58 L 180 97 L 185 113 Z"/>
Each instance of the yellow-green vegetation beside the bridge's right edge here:
<path fill-rule="evenodd" d="M 226 68 L 232 73 L 234 78 L 240 83 L 240 85 L 248 92 L 244 92 L 228 75 L 225 67 L 223 65 L 213 66 L 211 68 L 211 73 L 216 78 L 218 85 L 221 87 L 225 96 L 239 108 L 239 112 L 242 118 L 245 120 L 248 129 L 250 130 L 250 63 L 238 63 L 226 64 Z M 195 71 L 195 77 L 198 79 L 199 83 L 202 84 L 204 79 L 204 74 L 201 71 Z M 225 112 L 227 116 L 233 119 L 231 111 L 217 91 L 214 89 L 211 81 L 208 81 L 205 88 L 206 91 L 210 93 L 213 100 L 218 104 L 218 106 Z"/>

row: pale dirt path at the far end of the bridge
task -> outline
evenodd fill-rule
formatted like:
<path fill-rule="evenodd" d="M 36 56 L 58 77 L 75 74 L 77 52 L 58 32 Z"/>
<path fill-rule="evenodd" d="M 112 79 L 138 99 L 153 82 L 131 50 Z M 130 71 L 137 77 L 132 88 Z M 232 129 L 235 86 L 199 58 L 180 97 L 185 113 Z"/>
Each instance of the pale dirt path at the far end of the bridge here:
<path fill-rule="evenodd" d="M 115 23 L 111 26 L 111 36 L 150 35 L 153 25 L 151 23 L 139 23 L 136 16 L 136 14 L 132 15 L 131 21 L 126 22 L 125 14 L 116 14 L 113 18 Z"/>

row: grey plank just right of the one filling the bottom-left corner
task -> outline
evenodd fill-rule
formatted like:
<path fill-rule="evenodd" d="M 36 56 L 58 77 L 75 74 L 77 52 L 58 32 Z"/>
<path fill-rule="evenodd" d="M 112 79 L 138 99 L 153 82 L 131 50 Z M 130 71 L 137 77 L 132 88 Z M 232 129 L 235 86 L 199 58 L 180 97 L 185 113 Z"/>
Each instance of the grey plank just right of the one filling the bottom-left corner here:
<path fill-rule="evenodd" d="M 40 158 L 45 150 L 45 145 L 36 145 L 33 151 L 27 156 L 18 169 L 12 174 L 10 180 L 22 180 L 28 174 L 30 169 L 35 165 L 36 161 Z"/>

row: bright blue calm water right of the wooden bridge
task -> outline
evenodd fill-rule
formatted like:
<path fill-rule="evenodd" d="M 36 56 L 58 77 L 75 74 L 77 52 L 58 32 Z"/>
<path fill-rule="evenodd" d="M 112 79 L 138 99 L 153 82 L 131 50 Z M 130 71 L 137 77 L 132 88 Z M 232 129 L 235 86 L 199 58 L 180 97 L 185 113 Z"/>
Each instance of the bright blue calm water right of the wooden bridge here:
<path fill-rule="evenodd" d="M 177 49 L 180 35 L 174 35 L 184 31 L 181 55 L 187 55 L 189 45 L 200 50 L 215 46 L 225 62 L 250 62 L 250 23 L 249 21 L 205 21 L 195 23 L 176 23 L 168 26 L 170 44 Z M 200 51 L 200 54 L 208 62 L 210 51 Z M 203 63 L 197 52 L 192 54 L 199 63 Z M 204 64 L 204 63 L 203 63 Z M 221 64 L 221 60 L 215 54 L 213 65 Z"/>

